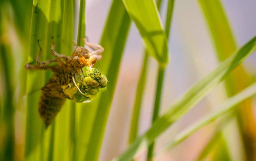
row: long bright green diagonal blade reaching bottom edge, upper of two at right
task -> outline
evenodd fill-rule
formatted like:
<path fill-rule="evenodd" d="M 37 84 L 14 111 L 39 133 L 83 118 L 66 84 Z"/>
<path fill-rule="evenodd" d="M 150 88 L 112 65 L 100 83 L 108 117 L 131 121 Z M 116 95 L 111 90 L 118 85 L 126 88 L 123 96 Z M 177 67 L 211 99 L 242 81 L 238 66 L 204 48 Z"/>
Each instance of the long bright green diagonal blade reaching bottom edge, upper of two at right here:
<path fill-rule="evenodd" d="M 199 100 L 201 100 L 213 87 L 218 85 L 228 73 L 239 65 L 247 56 L 256 50 L 256 37 L 247 42 L 239 51 L 230 56 L 225 62 L 222 62 L 208 76 L 201 79 L 196 85 L 188 90 L 174 105 L 157 119 L 152 127 L 125 152 L 113 161 L 129 161 L 137 154 L 142 147 L 148 146 L 151 142 L 160 136 L 177 119 L 180 119 L 189 111 Z"/>

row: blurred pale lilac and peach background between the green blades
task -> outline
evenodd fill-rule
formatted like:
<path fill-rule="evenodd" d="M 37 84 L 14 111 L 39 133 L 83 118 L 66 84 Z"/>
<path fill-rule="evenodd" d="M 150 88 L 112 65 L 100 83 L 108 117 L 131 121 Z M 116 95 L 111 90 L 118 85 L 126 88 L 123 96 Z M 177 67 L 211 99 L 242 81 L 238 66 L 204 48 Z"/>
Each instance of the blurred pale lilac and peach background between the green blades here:
<path fill-rule="evenodd" d="M 86 35 L 90 42 L 100 41 L 105 26 L 108 11 L 112 0 L 86 0 Z M 256 1 L 255 0 L 221 0 L 224 11 L 230 23 L 231 30 L 240 47 L 256 35 Z M 79 3 L 76 3 L 79 4 Z M 76 6 L 77 15 L 79 6 Z M 167 0 L 163 0 L 161 19 L 165 22 Z M 163 16 L 162 16 L 163 15 Z M 78 24 L 78 19 L 75 19 Z M 2 20 L 1 20 L 2 21 Z M 13 26 L 10 26 L 11 28 Z M 74 28 L 78 28 L 76 25 Z M 77 35 L 75 33 L 74 35 Z M 12 34 L 14 59 L 17 62 L 14 71 L 19 80 L 20 69 L 23 68 L 21 56 L 18 51 L 23 50 L 15 33 Z M 103 46 L 104 47 L 104 46 Z M 175 0 L 172 27 L 169 38 L 169 64 L 163 84 L 163 97 L 161 111 L 163 113 L 175 100 L 189 89 L 198 79 L 206 76 L 218 65 L 216 50 L 212 36 L 197 0 Z M 134 105 L 137 82 L 143 62 L 143 41 L 134 23 L 128 35 L 124 55 L 120 66 L 118 82 L 108 117 L 99 161 L 109 161 L 114 156 L 122 153 L 127 147 L 132 108 Z M 102 54 L 104 61 L 104 53 Z M 252 54 L 243 63 L 246 72 L 255 80 L 256 54 Z M 2 76 L 1 76 L 2 77 Z M 150 58 L 145 94 L 143 96 L 142 110 L 140 113 L 139 133 L 143 134 L 151 126 L 151 115 L 154 107 L 155 86 L 157 84 L 157 62 Z M 1 88 L 3 88 L 1 86 Z M 18 95 L 19 89 L 15 89 Z M 160 138 L 157 139 L 155 148 L 160 149 L 167 141 L 188 127 L 192 122 L 200 119 L 227 98 L 224 83 L 214 88 L 195 108 L 177 121 Z M 253 107 L 256 107 L 255 99 Z M 15 139 L 16 144 L 22 149 L 24 145 L 25 109 L 17 107 L 15 112 Z M 255 108 L 252 108 L 256 116 Z M 201 153 L 212 134 L 217 123 L 211 123 L 202 128 L 168 153 L 158 156 L 156 161 L 193 161 Z M 233 161 L 244 158 L 241 149 L 241 136 L 236 125 L 236 120 L 231 119 L 224 128 L 224 138 Z M 137 160 L 145 160 L 143 153 Z"/>

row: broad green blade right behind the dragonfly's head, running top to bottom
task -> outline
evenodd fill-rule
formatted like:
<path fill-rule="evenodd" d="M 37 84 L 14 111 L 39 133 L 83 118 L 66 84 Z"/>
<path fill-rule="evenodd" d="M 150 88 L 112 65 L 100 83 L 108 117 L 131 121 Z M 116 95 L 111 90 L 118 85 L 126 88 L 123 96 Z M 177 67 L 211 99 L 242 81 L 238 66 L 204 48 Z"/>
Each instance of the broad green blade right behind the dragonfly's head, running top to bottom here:
<path fill-rule="evenodd" d="M 116 7 L 117 6 L 117 7 Z M 104 61 L 99 62 L 98 67 L 108 78 L 109 84 L 105 93 L 98 96 L 99 104 L 96 108 L 96 116 L 90 134 L 89 148 L 86 153 L 86 161 L 97 161 L 102 139 L 107 124 L 108 114 L 116 87 L 119 65 L 127 40 L 131 20 L 120 0 L 113 0 L 109 17 L 102 35 L 101 45 L 105 48 Z M 105 58 L 110 57 L 109 61 Z"/>

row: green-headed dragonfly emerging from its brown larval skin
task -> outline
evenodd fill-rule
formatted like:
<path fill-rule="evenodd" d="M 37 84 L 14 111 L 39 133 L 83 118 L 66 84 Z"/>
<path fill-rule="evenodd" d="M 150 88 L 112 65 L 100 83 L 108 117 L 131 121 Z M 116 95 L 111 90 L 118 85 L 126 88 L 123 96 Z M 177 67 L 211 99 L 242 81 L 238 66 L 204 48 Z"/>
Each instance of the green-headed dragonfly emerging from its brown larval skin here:
<path fill-rule="evenodd" d="M 55 43 L 52 38 L 51 54 L 56 59 L 39 62 L 42 53 L 40 48 L 36 58 L 37 65 L 26 63 L 28 70 L 46 70 L 54 72 L 47 84 L 42 88 L 39 102 L 39 113 L 44 120 L 46 127 L 52 123 L 57 113 L 61 110 L 66 99 L 74 102 L 90 102 L 100 88 L 105 88 L 108 84 L 106 76 L 93 68 L 97 60 L 102 58 L 104 51 L 102 46 L 92 44 L 84 39 L 84 44 L 93 49 L 90 52 L 87 48 L 77 46 L 72 56 L 65 56 L 54 51 Z M 50 65 L 56 62 L 55 65 Z"/>

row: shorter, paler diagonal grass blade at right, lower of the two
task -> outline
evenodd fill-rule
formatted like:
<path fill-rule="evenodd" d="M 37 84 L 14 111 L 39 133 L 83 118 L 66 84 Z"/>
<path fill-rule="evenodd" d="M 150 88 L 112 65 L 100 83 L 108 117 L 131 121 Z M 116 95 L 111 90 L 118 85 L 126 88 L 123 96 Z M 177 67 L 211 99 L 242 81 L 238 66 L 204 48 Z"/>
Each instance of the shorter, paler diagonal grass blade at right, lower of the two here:
<path fill-rule="evenodd" d="M 160 155 L 162 153 L 167 152 L 168 150 L 171 150 L 176 145 L 180 144 L 183 140 L 191 136 L 193 133 L 195 133 L 197 130 L 201 129 L 205 125 L 211 123 L 212 121 L 215 121 L 220 116 L 223 116 L 226 113 L 229 113 L 231 110 L 233 110 L 237 104 L 244 101 L 245 99 L 250 98 L 251 96 L 256 94 L 256 83 L 253 85 L 250 85 L 250 87 L 244 89 L 242 92 L 237 94 L 236 96 L 233 96 L 229 99 L 227 99 L 223 104 L 221 104 L 219 107 L 216 107 L 216 111 L 213 111 L 209 113 L 207 116 L 204 116 L 204 118 L 198 120 L 194 124 L 190 125 L 188 128 L 183 130 L 181 133 L 179 133 L 175 138 L 169 142 L 165 147 L 163 147 L 157 155 Z"/>

